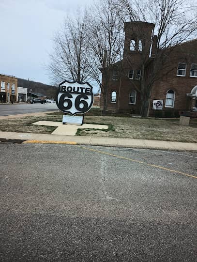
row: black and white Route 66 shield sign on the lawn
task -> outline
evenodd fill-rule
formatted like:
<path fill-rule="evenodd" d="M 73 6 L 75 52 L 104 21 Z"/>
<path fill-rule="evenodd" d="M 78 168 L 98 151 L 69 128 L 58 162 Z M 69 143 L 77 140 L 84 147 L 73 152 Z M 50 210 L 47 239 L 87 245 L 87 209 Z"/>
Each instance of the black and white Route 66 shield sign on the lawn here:
<path fill-rule="evenodd" d="M 56 96 L 58 108 L 71 115 L 84 114 L 88 112 L 93 105 L 92 86 L 86 82 L 63 81 L 59 85 L 59 91 Z"/>

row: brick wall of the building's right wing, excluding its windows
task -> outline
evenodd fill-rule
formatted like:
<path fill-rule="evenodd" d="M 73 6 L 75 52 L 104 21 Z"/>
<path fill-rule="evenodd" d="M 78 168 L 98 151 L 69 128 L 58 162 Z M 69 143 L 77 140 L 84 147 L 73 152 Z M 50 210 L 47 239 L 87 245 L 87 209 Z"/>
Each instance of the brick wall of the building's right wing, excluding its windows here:
<path fill-rule="evenodd" d="M 184 77 L 177 76 L 177 67 L 179 62 L 186 63 L 186 75 Z M 171 112 L 174 116 L 174 112 L 180 112 L 184 110 L 190 110 L 195 103 L 192 97 L 186 96 L 197 85 L 197 77 L 190 77 L 190 68 L 192 63 L 197 63 L 197 40 L 184 43 L 173 50 L 168 61 L 171 65 L 171 71 L 167 76 L 162 77 L 160 81 L 154 83 L 150 101 L 150 115 L 153 116 L 155 111 L 152 110 L 152 100 L 162 99 L 163 114 L 165 112 Z M 165 68 L 164 68 L 165 70 Z M 163 70 L 163 71 L 164 71 Z M 175 92 L 174 107 L 166 107 L 167 91 L 173 90 Z"/>

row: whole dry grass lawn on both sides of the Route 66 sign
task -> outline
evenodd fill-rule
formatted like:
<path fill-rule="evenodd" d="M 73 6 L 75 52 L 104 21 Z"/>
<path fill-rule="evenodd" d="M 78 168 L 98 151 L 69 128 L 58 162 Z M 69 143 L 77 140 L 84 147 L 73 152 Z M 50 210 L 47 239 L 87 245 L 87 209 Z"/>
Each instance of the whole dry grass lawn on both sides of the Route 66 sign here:
<path fill-rule="evenodd" d="M 62 120 L 61 112 L 45 116 L 0 120 L 0 131 L 25 133 L 51 133 L 56 127 L 31 125 L 31 123 Z M 84 123 L 107 124 L 108 130 L 78 129 L 78 136 L 97 136 L 131 139 L 153 139 L 197 143 L 197 119 L 190 120 L 190 126 L 179 125 L 179 119 L 142 119 L 126 116 L 101 116 L 99 109 L 93 108 L 84 117 Z"/>

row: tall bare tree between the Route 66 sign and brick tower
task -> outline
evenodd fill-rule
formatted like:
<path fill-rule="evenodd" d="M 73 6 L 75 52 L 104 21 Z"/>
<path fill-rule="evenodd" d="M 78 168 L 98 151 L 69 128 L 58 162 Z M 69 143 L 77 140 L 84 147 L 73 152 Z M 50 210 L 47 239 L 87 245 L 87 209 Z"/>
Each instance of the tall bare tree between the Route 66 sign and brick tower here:
<path fill-rule="evenodd" d="M 104 112 L 107 109 L 110 73 L 114 64 L 121 60 L 122 53 L 123 24 L 116 4 L 115 0 L 99 0 L 91 7 L 89 17 L 88 44 L 93 59 L 91 77 L 100 86 L 104 98 Z"/>

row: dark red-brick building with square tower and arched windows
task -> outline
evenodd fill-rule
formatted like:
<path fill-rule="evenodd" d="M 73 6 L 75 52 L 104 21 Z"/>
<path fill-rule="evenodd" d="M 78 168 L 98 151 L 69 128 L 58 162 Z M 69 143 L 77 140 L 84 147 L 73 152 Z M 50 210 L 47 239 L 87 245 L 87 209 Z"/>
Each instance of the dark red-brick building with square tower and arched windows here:
<path fill-rule="evenodd" d="M 111 70 L 108 110 L 140 113 L 143 103 L 141 81 L 147 81 L 150 71 L 157 67 L 154 26 L 145 22 L 124 24 L 123 59 Z M 160 50 L 157 51 L 159 54 Z M 149 116 L 156 116 L 158 112 L 160 116 L 178 116 L 181 111 L 197 107 L 197 39 L 161 50 L 161 58 L 164 56 L 167 58 L 157 71 L 158 80 L 152 86 Z"/>

